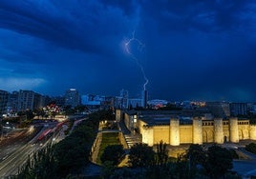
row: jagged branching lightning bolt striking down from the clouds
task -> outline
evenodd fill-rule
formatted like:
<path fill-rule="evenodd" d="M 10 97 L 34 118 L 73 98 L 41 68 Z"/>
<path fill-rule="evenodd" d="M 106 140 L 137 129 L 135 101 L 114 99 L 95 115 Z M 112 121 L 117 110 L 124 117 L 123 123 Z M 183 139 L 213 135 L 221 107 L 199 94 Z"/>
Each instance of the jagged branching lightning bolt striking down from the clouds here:
<path fill-rule="evenodd" d="M 145 83 L 143 84 L 144 90 L 146 90 L 146 85 L 148 84 L 148 79 L 146 77 L 145 71 L 143 66 L 139 63 L 139 59 L 129 50 L 130 44 L 132 42 L 138 43 L 138 50 L 141 51 L 145 48 L 145 45 L 139 41 L 138 38 L 135 38 L 135 31 L 133 32 L 133 37 L 130 38 L 126 43 L 125 43 L 125 50 L 127 53 L 136 61 L 137 65 L 139 66 L 139 69 L 141 70 L 143 74 L 143 78 L 145 80 Z"/>

